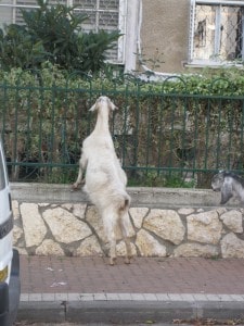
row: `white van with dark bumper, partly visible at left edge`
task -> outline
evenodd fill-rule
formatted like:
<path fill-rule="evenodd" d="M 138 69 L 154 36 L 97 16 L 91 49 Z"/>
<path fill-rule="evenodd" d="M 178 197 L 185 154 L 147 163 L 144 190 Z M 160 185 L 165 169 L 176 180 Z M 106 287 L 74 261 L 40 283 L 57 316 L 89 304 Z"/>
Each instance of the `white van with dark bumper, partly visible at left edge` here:
<path fill-rule="evenodd" d="M 13 212 L 10 185 L 0 137 L 0 325 L 15 322 L 21 296 L 20 256 L 13 249 Z"/>

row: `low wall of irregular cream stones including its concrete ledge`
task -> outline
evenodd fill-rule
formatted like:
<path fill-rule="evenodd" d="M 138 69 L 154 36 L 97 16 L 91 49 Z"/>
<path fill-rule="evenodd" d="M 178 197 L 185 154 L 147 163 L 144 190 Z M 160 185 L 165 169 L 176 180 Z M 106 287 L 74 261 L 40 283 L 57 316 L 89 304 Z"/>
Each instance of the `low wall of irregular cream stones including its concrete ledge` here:
<path fill-rule="evenodd" d="M 107 242 L 95 208 L 69 186 L 12 184 L 14 246 L 23 254 L 105 255 Z M 244 258 L 237 203 L 218 206 L 211 190 L 129 188 L 134 255 Z M 118 234 L 118 239 L 120 235 Z M 118 240 L 118 253 L 124 242 Z"/>

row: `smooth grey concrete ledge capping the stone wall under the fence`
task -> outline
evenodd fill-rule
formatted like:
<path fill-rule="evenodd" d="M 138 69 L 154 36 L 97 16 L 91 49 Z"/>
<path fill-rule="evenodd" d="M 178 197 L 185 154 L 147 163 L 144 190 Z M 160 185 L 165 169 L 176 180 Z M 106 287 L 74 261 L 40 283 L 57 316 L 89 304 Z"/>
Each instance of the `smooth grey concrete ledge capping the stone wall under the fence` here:
<path fill-rule="evenodd" d="M 73 191 L 72 185 L 12 183 L 12 198 L 27 202 L 87 203 L 82 190 Z M 210 189 L 189 188 L 128 188 L 132 206 L 176 208 L 218 206 L 220 193 Z M 232 205 L 231 202 L 229 204 Z"/>

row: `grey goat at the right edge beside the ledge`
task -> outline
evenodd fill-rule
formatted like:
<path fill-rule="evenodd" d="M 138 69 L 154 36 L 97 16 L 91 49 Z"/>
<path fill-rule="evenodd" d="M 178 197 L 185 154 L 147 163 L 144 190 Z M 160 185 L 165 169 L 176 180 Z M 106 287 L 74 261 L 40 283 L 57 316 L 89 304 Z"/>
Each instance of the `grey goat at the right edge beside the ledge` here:
<path fill-rule="evenodd" d="M 221 171 L 214 175 L 211 189 L 221 191 L 220 204 L 227 203 L 232 197 L 244 203 L 244 178 L 232 172 Z"/>

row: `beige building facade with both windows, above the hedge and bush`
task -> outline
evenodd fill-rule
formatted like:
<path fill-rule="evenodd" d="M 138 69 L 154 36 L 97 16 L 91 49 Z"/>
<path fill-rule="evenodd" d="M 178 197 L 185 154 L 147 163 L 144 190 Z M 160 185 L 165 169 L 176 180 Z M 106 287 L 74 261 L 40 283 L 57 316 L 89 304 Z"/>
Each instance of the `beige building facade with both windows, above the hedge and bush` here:
<path fill-rule="evenodd" d="M 119 29 L 107 60 L 126 72 L 177 74 L 189 67 L 239 65 L 244 59 L 242 0 L 51 0 L 87 13 L 85 30 Z M 0 0 L 0 27 L 22 24 L 36 0 Z"/>

